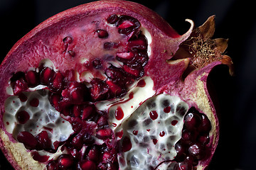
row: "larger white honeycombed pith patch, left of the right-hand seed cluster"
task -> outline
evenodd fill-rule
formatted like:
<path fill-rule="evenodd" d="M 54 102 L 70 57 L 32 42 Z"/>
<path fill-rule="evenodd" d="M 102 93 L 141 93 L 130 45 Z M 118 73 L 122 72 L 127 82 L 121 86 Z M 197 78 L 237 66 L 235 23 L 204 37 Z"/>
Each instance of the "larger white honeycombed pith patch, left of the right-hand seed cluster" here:
<path fill-rule="evenodd" d="M 171 112 L 165 113 L 163 101 L 169 101 Z M 155 104 L 155 106 L 154 106 Z M 152 120 L 149 116 L 151 111 L 158 113 L 158 118 Z M 132 149 L 119 154 L 119 168 L 128 169 L 150 169 L 154 168 L 161 162 L 173 160 L 176 156 L 174 148 L 176 142 L 181 139 L 181 131 L 183 128 L 184 113 L 188 111 L 188 104 L 181 101 L 176 96 L 167 94 L 159 94 L 149 98 L 142 103 L 132 115 L 123 121 L 119 130 L 123 131 L 123 137 L 129 137 L 132 142 Z M 179 113 L 183 114 L 179 114 Z M 136 125 L 131 127 L 131 121 L 137 121 Z M 145 120 L 150 120 L 149 125 L 145 125 Z M 171 125 L 173 120 L 177 120 L 176 125 Z M 138 134 L 134 135 L 134 131 L 138 130 Z M 160 132 L 165 132 L 164 136 L 160 136 Z M 156 139 L 156 145 L 153 142 Z M 121 143 L 122 143 L 121 140 Z M 162 165 L 161 168 L 166 169 Z"/>

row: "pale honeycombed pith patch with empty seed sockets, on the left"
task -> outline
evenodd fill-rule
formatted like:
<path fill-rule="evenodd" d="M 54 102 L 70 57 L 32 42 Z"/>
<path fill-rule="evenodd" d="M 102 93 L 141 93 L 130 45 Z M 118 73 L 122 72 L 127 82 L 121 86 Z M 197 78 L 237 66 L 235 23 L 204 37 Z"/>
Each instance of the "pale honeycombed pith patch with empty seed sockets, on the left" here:
<path fill-rule="evenodd" d="M 46 130 L 52 142 L 63 142 L 73 133 L 72 126 L 67 120 L 60 117 L 60 113 L 50 105 L 48 100 L 48 90 L 23 92 L 28 99 L 22 102 L 18 96 L 10 96 L 4 104 L 4 125 L 6 131 L 11 133 L 14 138 L 18 132 L 28 131 L 32 135 L 37 135 L 46 128 L 52 129 L 52 132 Z M 37 107 L 30 106 L 29 102 L 33 98 L 38 98 Z M 25 124 L 18 123 L 16 114 L 19 111 L 26 111 L 30 119 Z"/>

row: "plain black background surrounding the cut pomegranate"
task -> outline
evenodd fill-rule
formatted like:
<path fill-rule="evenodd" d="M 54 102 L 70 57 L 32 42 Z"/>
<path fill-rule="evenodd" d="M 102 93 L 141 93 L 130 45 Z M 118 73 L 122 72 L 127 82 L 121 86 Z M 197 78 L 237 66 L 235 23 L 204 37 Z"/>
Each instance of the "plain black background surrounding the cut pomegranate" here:
<path fill-rule="evenodd" d="M 85 4 L 82 0 L 1 0 L 0 56 L 4 59 L 14 43 L 38 23 L 55 13 Z M 228 38 L 227 55 L 233 58 L 235 77 L 227 67 L 217 67 L 210 75 L 220 108 L 220 142 L 210 163 L 213 169 L 255 169 L 256 161 L 256 15 L 255 4 L 238 0 L 137 0 L 148 6 L 183 34 L 186 18 L 200 26 L 215 15 L 213 38 Z M 12 169 L 3 154 L 0 169 Z"/>

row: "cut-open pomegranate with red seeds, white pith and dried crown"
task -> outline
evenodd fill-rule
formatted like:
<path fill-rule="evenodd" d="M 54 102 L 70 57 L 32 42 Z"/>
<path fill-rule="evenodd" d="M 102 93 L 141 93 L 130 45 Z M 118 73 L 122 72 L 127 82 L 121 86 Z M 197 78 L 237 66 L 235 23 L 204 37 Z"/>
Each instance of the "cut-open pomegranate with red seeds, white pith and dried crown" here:
<path fill-rule="evenodd" d="M 31 30 L 0 67 L 0 146 L 15 169 L 205 169 L 207 89 L 227 64 L 214 16 L 178 35 L 140 4 L 95 1 Z"/>

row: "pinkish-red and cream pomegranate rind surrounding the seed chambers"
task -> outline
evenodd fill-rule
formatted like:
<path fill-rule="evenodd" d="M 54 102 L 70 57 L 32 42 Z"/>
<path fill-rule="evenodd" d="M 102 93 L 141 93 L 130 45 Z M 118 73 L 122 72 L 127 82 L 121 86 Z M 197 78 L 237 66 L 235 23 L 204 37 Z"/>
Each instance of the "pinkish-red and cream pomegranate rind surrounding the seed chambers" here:
<path fill-rule="evenodd" d="M 18 40 L 2 62 L 0 66 L 0 75 L 2 75 L 0 78 L 0 90 L 3 91 L 0 94 L 0 147 L 15 169 L 44 169 L 46 164 L 34 161 L 31 154 L 26 152 L 23 145 L 16 142 L 4 127 L 4 102 L 10 96 L 6 92 L 6 88 L 9 86 L 9 80 L 13 73 L 27 72 L 30 67 L 38 67 L 38 64 L 41 60 L 46 59 L 46 56 L 60 72 L 72 69 L 74 65 L 70 64 L 70 59 L 67 59 L 66 55 L 63 55 L 62 52 L 65 49 L 61 47 L 60 40 L 57 40 L 57 38 L 68 35 L 68 29 L 75 29 L 75 24 L 77 23 L 78 26 L 81 26 L 86 23 L 87 18 L 97 15 L 100 17 L 108 16 L 112 13 L 137 18 L 142 27 L 149 31 L 152 38 L 150 43 L 151 54 L 145 67 L 145 76 L 151 77 L 154 81 L 156 95 L 164 93 L 178 96 L 188 103 L 190 108 L 196 108 L 198 111 L 205 113 L 210 119 L 212 130 L 210 130 L 210 142 L 207 145 L 210 151 L 206 153 L 208 157 L 202 159 L 196 169 L 205 169 L 208 166 L 218 145 L 219 125 L 213 102 L 208 93 L 207 77 L 210 70 L 218 64 L 228 64 L 230 73 L 232 73 L 230 58 L 222 55 L 225 47 L 223 47 L 224 50 L 221 48 L 219 52 L 216 52 L 220 57 L 218 60 L 193 68 L 193 71 L 184 74 L 186 70 L 191 68 L 193 57 L 188 54 L 188 49 L 182 42 L 191 38 L 191 34 L 198 33 L 193 28 L 192 21 L 188 20 L 191 23 L 191 28 L 188 32 L 184 35 L 178 35 L 163 18 L 149 8 L 130 1 L 108 0 L 83 4 L 49 18 L 31 30 L 21 40 Z M 214 17 L 209 18 L 206 22 L 207 24 L 213 26 Z M 212 29 L 214 32 L 214 28 Z M 212 33 L 209 33 L 209 35 L 208 32 L 206 28 L 201 27 L 197 36 L 202 40 L 208 40 L 212 36 Z M 62 40 L 62 38 L 60 39 Z M 189 40 L 187 42 L 191 43 Z M 220 43 L 219 40 L 215 42 L 216 44 Z M 194 52 L 196 53 L 196 50 Z M 79 58 L 80 54 L 75 53 L 74 56 Z M 72 60 L 72 62 L 78 62 L 78 60 Z M 80 65 L 75 65 L 75 67 L 80 68 Z M 80 72 L 83 71 L 80 69 Z"/>

